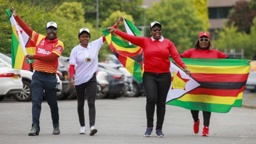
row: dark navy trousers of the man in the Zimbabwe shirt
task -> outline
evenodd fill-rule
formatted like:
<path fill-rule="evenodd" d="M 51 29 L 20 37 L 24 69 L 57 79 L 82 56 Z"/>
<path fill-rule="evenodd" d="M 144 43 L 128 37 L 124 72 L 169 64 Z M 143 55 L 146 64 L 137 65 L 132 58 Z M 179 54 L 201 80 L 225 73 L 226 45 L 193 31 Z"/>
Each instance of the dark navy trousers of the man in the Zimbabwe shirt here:
<path fill-rule="evenodd" d="M 53 120 L 53 128 L 59 124 L 59 108 L 57 103 L 57 79 L 56 74 L 35 71 L 32 76 L 32 126 L 35 126 L 37 134 L 40 132 L 39 118 L 41 114 L 41 104 L 43 102 L 43 94 L 51 109 L 51 118 Z"/>

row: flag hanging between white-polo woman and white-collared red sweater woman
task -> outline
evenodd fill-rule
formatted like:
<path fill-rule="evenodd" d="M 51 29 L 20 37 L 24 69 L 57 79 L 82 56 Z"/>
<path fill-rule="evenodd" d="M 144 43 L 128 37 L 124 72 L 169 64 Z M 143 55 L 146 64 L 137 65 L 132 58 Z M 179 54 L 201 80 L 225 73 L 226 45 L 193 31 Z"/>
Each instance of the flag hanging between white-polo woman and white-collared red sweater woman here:
<path fill-rule="evenodd" d="M 124 19 L 126 31 L 134 36 L 141 36 L 140 31 L 128 20 Z M 134 44 L 127 44 L 112 36 L 107 29 L 102 30 L 110 49 L 120 63 L 140 82 L 143 74 L 143 50 Z"/>

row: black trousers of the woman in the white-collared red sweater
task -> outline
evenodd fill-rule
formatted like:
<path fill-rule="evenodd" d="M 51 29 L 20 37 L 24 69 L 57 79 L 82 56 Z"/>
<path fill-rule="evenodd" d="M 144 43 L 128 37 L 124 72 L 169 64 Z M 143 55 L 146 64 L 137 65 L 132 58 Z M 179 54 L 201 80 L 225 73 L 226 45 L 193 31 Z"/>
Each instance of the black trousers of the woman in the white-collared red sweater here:
<path fill-rule="evenodd" d="M 160 130 L 165 118 L 165 102 L 171 86 L 171 73 L 144 72 L 142 80 L 146 93 L 147 127 L 153 127 L 156 106 L 156 130 Z"/>

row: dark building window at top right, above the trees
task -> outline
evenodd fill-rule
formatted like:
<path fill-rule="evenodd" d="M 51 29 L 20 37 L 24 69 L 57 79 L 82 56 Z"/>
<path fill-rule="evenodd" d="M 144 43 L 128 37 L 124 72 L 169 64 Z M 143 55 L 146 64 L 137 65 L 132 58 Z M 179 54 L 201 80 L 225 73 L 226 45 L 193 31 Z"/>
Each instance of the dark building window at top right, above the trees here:
<path fill-rule="evenodd" d="M 230 11 L 233 7 L 218 7 L 218 8 L 208 8 L 209 18 L 228 18 Z"/>

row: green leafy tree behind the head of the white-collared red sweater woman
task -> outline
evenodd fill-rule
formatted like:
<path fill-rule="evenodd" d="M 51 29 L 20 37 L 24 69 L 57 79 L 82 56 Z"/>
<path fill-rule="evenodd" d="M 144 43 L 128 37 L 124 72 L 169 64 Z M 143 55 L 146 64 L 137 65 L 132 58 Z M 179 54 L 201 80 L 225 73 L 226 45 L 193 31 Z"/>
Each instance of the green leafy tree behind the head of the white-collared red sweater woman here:
<path fill-rule="evenodd" d="M 199 32 L 204 30 L 193 0 L 161 0 L 148 8 L 146 15 L 148 28 L 151 22 L 160 22 L 162 35 L 171 40 L 179 52 L 193 48 Z"/>

